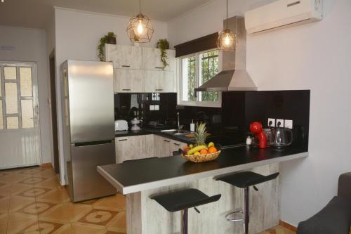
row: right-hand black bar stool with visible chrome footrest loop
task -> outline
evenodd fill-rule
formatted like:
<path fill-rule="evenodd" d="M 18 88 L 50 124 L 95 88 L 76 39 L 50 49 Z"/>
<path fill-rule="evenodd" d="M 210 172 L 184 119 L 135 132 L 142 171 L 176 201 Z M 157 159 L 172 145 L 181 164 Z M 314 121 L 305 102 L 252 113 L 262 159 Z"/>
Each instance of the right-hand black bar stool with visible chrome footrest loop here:
<path fill-rule="evenodd" d="M 258 191 L 256 185 L 258 183 L 263 183 L 266 181 L 271 181 L 274 178 L 277 178 L 279 173 L 274 173 L 269 176 L 263 176 L 257 174 L 252 171 L 244 171 L 236 174 L 230 174 L 227 176 L 221 176 L 216 178 L 216 181 L 224 181 L 226 183 L 230 183 L 233 186 L 237 186 L 239 188 L 243 188 L 243 209 L 242 210 L 234 210 L 228 213 L 225 218 L 228 221 L 241 221 L 243 223 L 243 233 L 249 233 L 249 187 L 253 186 L 253 188 Z M 228 216 L 232 214 L 241 213 L 243 214 L 243 219 L 230 219 Z"/>

